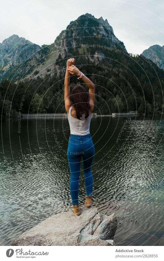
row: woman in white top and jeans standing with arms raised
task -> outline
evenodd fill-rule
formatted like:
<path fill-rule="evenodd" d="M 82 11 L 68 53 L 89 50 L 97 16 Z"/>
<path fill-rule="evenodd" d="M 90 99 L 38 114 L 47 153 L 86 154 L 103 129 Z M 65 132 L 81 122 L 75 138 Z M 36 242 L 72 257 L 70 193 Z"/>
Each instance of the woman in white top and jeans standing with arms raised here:
<path fill-rule="evenodd" d="M 92 205 L 93 177 L 91 165 L 95 154 L 94 144 L 89 132 L 90 121 L 95 100 L 95 85 L 74 65 L 75 59 L 67 61 L 67 69 L 64 81 L 64 102 L 70 126 L 70 137 L 68 142 L 68 163 L 71 171 L 70 193 L 72 198 L 73 212 L 80 215 L 79 206 L 79 177 L 80 161 L 83 160 L 83 172 L 86 186 L 85 205 Z M 72 102 L 70 100 L 70 73 L 78 75 L 89 88 L 89 97 L 85 88 L 78 84 L 72 89 Z"/>

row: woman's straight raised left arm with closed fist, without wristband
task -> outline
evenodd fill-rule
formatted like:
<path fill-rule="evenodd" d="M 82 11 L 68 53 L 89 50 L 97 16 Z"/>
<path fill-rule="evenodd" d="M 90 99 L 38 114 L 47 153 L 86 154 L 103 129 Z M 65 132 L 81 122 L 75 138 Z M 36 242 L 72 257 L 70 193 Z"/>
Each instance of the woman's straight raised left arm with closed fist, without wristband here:
<path fill-rule="evenodd" d="M 67 69 L 70 65 L 73 65 L 75 63 L 74 58 L 70 58 L 67 61 Z M 71 100 L 70 100 L 70 88 L 69 88 L 69 82 L 70 82 L 70 72 L 66 69 L 65 72 L 65 80 L 64 80 L 64 104 L 65 109 L 67 113 L 69 112 L 69 108 L 71 106 Z"/>

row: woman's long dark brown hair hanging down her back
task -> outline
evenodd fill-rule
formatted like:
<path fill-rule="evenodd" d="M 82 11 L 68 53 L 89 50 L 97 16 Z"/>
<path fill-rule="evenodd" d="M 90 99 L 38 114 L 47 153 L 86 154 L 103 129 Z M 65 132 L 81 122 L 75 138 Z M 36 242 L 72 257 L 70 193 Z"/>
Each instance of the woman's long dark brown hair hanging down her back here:
<path fill-rule="evenodd" d="M 77 84 L 72 89 L 72 101 L 77 119 L 82 120 L 84 117 L 87 118 L 91 109 L 89 107 L 88 93 L 82 85 Z M 82 118 L 80 119 L 80 117 Z"/>

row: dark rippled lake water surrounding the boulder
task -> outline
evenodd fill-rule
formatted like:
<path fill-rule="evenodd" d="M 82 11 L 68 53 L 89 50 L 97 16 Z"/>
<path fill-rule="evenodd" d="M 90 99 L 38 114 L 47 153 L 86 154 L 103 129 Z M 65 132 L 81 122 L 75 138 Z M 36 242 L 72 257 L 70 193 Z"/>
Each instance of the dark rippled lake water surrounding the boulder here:
<path fill-rule="evenodd" d="M 93 200 L 118 217 L 116 245 L 163 245 L 163 132 L 160 115 L 92 118 Z M 67 118 L 22 119 L 21 133 L 17 120 L 2 122 L 1 245 L 71 208 L 69 133 Z M 79 185 L 82 205 L 82 172 Z"/>

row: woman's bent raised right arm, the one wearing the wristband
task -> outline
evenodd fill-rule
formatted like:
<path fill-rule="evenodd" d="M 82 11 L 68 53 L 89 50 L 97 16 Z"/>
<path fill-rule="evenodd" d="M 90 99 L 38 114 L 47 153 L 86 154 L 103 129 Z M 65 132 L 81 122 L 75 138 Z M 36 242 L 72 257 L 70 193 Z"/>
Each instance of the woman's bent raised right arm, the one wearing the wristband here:
<path fill-rule="evenodd" d="M 69 73 L 71 73 L 73 75 L 78 75 L 80 73 L 80 70 L 73 64 L 71 66 L 69 66 L 67 68 L 67 70 Z M 85 75 L 81 79 L 84 81 L 84 83 L 86 83 L 86 85 L 89 88 L 89 106 L 90 106 L 90 109 L 92 112 L 93 108 L 94 108 L 94 101 L 95 101 L 95 85 Z"/>

